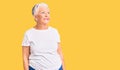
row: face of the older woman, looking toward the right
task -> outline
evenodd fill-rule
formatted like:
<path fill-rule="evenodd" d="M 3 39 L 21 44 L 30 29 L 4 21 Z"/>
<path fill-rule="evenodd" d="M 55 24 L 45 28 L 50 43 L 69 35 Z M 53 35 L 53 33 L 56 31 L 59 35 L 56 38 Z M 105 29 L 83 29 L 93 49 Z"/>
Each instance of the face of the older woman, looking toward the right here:
<path fill-rule="evenodd" d="M 48 7 L 40 7 L 36 15 L 37 22 L 47 24 L 50 21 L 50 11 Z"/>

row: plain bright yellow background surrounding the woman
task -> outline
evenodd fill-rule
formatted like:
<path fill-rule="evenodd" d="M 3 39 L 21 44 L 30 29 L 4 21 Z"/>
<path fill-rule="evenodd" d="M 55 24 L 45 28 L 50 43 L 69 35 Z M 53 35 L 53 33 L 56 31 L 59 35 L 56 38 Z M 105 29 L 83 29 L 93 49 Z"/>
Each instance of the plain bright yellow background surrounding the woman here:
<path fill-rule="evenodd" d="M 66 70 L 120 70 L 119 0 L 1 0 L 0 70 L 23 70 L 21 42 L 39 2 L 50 7 Z"/>

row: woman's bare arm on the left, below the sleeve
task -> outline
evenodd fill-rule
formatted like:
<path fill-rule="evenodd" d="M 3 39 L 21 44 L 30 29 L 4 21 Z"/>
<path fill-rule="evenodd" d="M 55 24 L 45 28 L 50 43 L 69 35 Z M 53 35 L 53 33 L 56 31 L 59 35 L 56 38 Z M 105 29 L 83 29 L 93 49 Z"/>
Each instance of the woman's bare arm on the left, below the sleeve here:
<path fill-rule="evenodd" d="M 29 46 L 23 46 L 22 47 L 22 54 L 23 54 L 23 67 L 24 67 L 24 70 L 29 70 L 29 50 L 30 50 L 30 47 Z"/>

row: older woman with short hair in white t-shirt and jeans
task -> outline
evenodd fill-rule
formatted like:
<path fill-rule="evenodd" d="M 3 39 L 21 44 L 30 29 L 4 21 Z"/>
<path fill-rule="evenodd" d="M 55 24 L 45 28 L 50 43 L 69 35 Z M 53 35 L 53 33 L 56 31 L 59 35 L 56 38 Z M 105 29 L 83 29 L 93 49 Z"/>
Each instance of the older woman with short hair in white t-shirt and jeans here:
<path fill-rule="evenodd" d="M 59 33 L 48 26 L 48 5 L 36 4 L 32 15 L 36 25 L 25 32 L 22 41 L 24 70 L 65 70 Z"/>

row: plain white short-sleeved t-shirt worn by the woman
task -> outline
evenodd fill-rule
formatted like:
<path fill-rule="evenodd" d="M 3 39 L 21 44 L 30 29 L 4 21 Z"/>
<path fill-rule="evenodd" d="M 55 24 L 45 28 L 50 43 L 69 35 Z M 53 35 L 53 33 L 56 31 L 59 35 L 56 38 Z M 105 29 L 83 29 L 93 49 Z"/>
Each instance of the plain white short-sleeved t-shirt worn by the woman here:
<path fill-rule="evenodd" d="M 31 28 L 25 32 L 22 46 L 30 46 L 29 65 L 35 70 L 58 70 L 62 64 L 57 53 L 60 36 L 53 27 Z"/>

